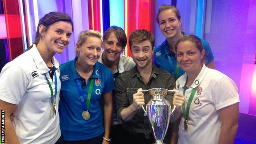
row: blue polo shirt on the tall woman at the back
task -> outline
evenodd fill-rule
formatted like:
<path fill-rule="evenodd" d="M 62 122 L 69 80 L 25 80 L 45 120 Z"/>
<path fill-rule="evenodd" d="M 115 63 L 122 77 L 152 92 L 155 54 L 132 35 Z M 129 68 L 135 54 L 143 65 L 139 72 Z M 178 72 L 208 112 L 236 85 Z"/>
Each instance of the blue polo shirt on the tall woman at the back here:
<path fill-rule="evenodd" d="M 183 34 L 185 35 L 185 33 Z M 214 59 L 212 50 L 209 46 L 209 43 L 206 40 L 201 39 L 201 42 L 203 43 L 203 48 L 206 51 L 206 64 L 209 64 Z M 155 48 L 154 64 L 158 68 L 164 69 L 165 71 L 171 73 L 175 80 L 177 80 L 181 75 L 185 73 L 185 71 L 183 71 L 180 67 L 178 67 L 178 72 L 176 72 L 177 55 L 172 51 L 170 52 L 167 39 L 165 39 L 165 41 L 160 46 L 157 46 Z M 176 73 L 178 75 L 177 78 Z"/>

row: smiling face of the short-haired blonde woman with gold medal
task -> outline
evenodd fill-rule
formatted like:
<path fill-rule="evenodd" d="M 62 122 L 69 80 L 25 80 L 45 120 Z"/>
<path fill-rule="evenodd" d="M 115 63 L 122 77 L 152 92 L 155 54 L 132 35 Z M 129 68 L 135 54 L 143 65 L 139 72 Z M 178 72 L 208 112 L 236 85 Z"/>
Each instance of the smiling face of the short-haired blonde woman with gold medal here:
<path fill-rule="evenodd" d="M 94 66 L 101 55 L 101 43 L 98 37 L 88 37 L 81 46 L 77 43 L 75 48 L 78 51 L 78 63 Z"/>

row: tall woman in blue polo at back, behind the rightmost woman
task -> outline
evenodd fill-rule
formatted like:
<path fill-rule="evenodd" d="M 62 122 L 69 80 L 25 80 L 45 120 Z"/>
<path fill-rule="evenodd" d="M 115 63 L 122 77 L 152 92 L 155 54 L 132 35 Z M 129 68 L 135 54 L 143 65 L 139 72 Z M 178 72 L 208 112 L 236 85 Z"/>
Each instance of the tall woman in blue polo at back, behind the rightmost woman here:
<path fill-rule="evenodd" d="M 185 72 L 179 68 L 176 60 L 174 46 L 176 42 L 185 35 L 182 32 L 181 15 L 175 6 L 162 5 L 158 9 L 157 19 L 159 28 L 166 40 L 154 50 L 154 64 L 161 69 L 171 73 L 177 80 Z M 215 69 L 214 57 L 209 43 L 201 39 L 206 50 L 206 66 Z"/>

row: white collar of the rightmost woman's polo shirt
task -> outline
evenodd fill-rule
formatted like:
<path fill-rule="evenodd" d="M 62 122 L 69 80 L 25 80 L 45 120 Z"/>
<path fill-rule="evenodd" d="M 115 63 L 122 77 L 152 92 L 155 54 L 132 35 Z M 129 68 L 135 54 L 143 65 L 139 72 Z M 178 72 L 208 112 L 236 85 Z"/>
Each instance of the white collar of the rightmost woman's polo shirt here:
<path fill-rule="evenodd" d="M 203 67 L 202 67 L 199 75 L 197 75 L 197 78 L 194 80 L 194 82 L 192 83 L 192 85 L 190 87 L 195 88 L 198 85 L 200 85 L 200 83 L 203 81 L 203 78 L 206 76 L 207 71 L 208 71 L 208 67 L 206 67 L 205 64 L 203 64 Z M 184 75 L 183 85 L 185 85 L 186 80 L 187 80 L 187 73 L 185 73 L 185 75 Z"/>

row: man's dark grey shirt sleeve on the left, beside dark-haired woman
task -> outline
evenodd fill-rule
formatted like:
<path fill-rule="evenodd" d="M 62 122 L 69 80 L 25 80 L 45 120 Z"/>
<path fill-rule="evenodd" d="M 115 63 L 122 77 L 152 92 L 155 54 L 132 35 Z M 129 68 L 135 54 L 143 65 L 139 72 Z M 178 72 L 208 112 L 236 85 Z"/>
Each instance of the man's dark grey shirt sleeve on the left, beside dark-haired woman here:
<path fill-rule="evenodd" d="M 114 91 L 116 97 L 116 109 L 117 109 L 117 118 L 121 121 L 124 121 L 121 117 L 121 111 L 129 106 L 129 101 L 127 97 L 125 80 L 122 77 L 122 74 L 117 77 L 115 81 Z"/>

